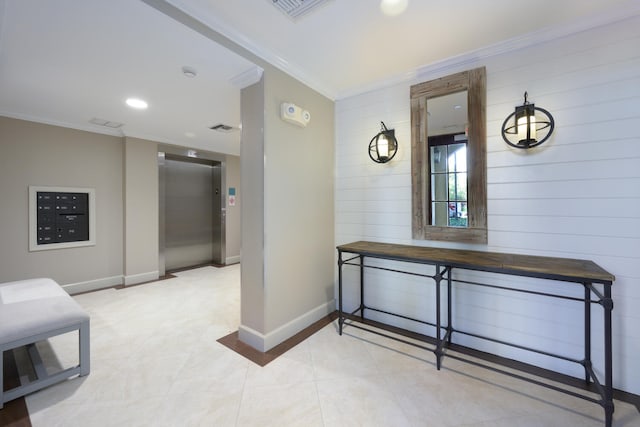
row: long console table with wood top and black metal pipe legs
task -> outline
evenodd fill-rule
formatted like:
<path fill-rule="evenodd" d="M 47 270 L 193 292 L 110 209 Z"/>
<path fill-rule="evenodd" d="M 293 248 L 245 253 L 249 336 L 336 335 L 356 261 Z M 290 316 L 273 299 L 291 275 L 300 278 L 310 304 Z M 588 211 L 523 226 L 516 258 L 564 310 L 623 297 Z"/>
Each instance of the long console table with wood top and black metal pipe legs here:
<path fill-rule="evenodd" d="M 387 315 L 399 316 L 411 321 L 427 324 L 435 328 L 435 337 L 433 345 L 435 348 L 433 352 L 436 356 L 436 366 L 440 369 L 442 364 L 442 358 L 444 357 L 447 348 L 451 345 L 451 338 L 454 333 L 468 335 L 475 338 L 493 341 L 499 344 L 516 347 L 521 350 L 531 351 L 545 356 L 562 359 L 568 362 L 574 362 L 580 364 L 585 371 L 585 381 L 587 384 L 593 382 L 595 390 L 600 399 L 592 396 L 579 394 L 569 389 L 563 389 L 556 386 L 549 386 L 545 383 L 533 381 L 536 384 L 550 387 L 554 390 L 561 391 L 572 396 L 586 399 L 591 402 L 601 405 L 605 413 L 606 427 L 611 427 L 613 421 L 613 383 L 612 383 L 612 337 L 611 337 L 611 311 L 613 310 L 613 300 L 611 298 L 611 285 L 615 280 L 615 277 L 599 267 L 592 261 L 567 259 L 567 258 L 550 258 L 528 255 L 515 255 L 506 253 L 492 253 L 492 252 L 480 252 L 480 251 L 467 251 L 457 249 L 441 249 L 422 246 L 408 246 L 408 245 L 396 245 L 377 242 L 354 242 L 345 245 L 340 245 L 338 249 L 338 315 L 339 315 L 339 332 L 342 335 L 342 328 L 345 320 L 365 320 L 365 310 L 376 311 L 385 313 Z M 345 254 L 347 255 L 345 257 Z M 367 258 L 377 258 L 383 260 L 401 261 L 407 263 L 427 264 L 435 267 L 435 272 L 432 275 L 418 274 L 412 271 L 400 270 L 398 268 L 386 268 L 380 265 L 367 264 L 365 260 Z M 360 269 L 360 305 L 358 308 L 351 312 L 345 313 L 342 306 L 343 296 L 343 267 L 345 265 L 356 266 Z M 428 322 L 424 320 L 414 319 L 404 316 L 400 313 L 391 313 L 381 309 L 381 307 L 368 307 L 364 304 L 364 269 L 373 268 L 380 270 L 387 270 L 396 273 L 405 273 L 411 275 L 424 276 L 431 279 L 435 286 L 435 321 Z M 491 273 L 499 273 L 512 276 L 524 276 L 538 279 L 547 279 L 558 281 L 558 285 L 563 284 L 579 284 L 584 288 L 584 294 L 582 297 L 566 296 L 566 292 L 539 292 L 530 289 L 523 289 L 520 287 L 511 287 L 505 285 L 496 285 L 489 283 L 479 283 L 476 281 L 456 280 L 453 277 L 454 270 L 471 270 L 471 271 L 484 271 Z M 567 283 L 568 282 L 568 283 Z M 456 329 L 453 324 L 452 318 L 452 298 L 451 292 L 452 285 L 456 283 L 464 283 L 470 286 L 482 286 L 494 289 L 524 292 L 528 294 L 535 294 L 538 296 L 560 298 L 565 300 L 572 300 L 581 302 L 584 306 L 584 358 L 574 359 L 559 354 L 553 354 L 547 351 L 541 351 L 535 348 L 529 348 L 518 344 L 505 342 L 504 340 L 497 340 L 491 337 L 478 335 L 476 333 L 465 332 Z M 441 289 L 444 288 L 444 289 Z M 561 289 L 561 288 L 559 288 Z M 444 298 L 441 298 L 441 294 L 444 293 Z M 446 304 L 446 315 L 442 315 L 442 299 Z M 604 322 L 604 381 L 601 382 L 596 373 L 594 372 L 591 361 L 591 308 L 593 305 L 598 304 L 603 308 L 603 322 Z M 359 314 L 359 316 L 357 316 Z M 443 321 L 442 317 L 446 317 Z M 355 323 L 352 323 L 356 326 Z M 363 328 L 366 329 L 366 328 Z M 527 379 L 523 376 L 517 376 L 521 379 Z"/>

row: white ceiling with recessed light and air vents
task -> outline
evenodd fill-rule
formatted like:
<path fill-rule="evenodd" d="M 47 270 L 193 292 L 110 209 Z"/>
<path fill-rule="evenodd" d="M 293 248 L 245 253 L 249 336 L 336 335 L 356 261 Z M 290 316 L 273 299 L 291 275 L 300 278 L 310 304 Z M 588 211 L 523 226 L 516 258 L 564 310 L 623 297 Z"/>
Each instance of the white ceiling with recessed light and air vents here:
<path fill-rule="evenodd" d="M 637 0 L 408 0 L 388 16 L 380 0 L 328 0 L 294 20 L 272 2 L 168 1 L 332 99 L 505 41 L 640 13 Z M 234 82 L 255 65 L 147 3 L 163 0 L 0 0 L 0 115 L 239 154 L 239 131 L 209 127 L 240 125 Z M 149 108 L 127 107 L 131 96 Z"/>

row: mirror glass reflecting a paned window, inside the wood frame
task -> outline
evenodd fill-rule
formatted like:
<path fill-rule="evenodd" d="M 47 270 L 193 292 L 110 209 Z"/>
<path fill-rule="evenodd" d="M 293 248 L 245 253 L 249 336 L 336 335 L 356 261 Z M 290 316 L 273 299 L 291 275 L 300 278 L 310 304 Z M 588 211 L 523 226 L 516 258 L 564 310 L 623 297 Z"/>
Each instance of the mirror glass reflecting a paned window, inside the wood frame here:
<path fill-rule="evenodd" d="M 467 227 L 467 91 L 427 100 L 431 225 Z"/>

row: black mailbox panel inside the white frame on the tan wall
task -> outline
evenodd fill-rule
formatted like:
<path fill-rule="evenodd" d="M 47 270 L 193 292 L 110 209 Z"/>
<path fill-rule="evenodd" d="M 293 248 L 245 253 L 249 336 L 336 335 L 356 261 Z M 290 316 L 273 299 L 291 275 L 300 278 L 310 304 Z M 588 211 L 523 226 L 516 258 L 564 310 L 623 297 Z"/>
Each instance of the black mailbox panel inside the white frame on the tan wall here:
<path fill-rule="evenodd" d="M 39 191 L 37 242 L 83 242 L 89 240 L 89 194 Z"/>

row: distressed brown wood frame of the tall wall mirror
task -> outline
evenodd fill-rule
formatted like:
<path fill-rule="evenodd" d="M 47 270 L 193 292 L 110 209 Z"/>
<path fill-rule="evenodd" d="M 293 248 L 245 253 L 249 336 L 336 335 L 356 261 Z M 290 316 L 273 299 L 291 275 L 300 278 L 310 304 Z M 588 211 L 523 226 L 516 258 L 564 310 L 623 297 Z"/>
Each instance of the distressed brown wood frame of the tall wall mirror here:
<path fill-rule="evenodd" d="M 468 226 L 431 225 L 427 100 L 467 91 Z M 484 67 L 411 86 L 412 232 L 419 240 L 487 243 L 487 125 Z"/>

